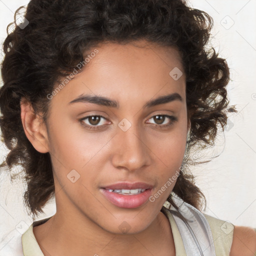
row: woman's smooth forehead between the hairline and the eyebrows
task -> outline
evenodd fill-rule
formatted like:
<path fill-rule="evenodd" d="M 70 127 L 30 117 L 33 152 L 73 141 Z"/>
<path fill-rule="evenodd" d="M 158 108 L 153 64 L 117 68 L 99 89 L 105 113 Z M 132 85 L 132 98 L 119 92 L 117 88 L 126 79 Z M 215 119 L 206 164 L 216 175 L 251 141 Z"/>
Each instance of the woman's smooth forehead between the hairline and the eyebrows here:
<path fill-rule="evenodd" d="M 148 100 L 157 93 L 177 92 L 185 97 L 185 75 L 179 52 L 174 47 L 145 41 L 107 42 L 91 47 L 85 57 L 89 61 L 82 72 L 75 75 L 57 97 L 61 94 L 66 100 L 72 100 L 90 93 L 119 98 L 118 101 L 126 103 L 131 99 Z"/>

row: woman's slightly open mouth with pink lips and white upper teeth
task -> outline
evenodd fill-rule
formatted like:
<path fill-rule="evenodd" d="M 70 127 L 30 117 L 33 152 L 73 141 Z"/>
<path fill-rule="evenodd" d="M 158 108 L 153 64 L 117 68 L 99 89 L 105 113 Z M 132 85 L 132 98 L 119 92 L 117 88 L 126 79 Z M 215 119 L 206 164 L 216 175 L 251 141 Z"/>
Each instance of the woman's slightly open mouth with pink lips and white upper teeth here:
<path fill-rule="evenodd" d="M 136 208 L 148 201 L 152 185 L 143 182 L 116 183 L 100 188 L 103 196 L 120 208 Z"/>

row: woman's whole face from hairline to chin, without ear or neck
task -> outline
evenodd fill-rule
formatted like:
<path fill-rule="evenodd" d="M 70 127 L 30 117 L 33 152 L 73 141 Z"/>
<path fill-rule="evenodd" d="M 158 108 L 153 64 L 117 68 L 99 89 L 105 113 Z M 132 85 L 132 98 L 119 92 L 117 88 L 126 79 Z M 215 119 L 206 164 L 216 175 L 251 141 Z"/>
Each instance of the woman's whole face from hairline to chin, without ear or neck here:
<path fill-rule="evenodd" d="M 140 41 L 95 48 L 83 71 L 50 99 L 57 212 L 135 233 L 153 222 L 182 163 L 185 75 L 171 47 Z"/>

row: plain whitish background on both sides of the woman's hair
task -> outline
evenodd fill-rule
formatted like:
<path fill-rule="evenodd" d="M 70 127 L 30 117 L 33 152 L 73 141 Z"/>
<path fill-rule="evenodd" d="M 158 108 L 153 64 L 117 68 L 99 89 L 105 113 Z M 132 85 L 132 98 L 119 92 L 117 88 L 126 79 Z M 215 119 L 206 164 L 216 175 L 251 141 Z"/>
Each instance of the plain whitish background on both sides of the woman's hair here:
<path fill-rule="evenodd" d="M 14 11 L 27 3 L 28 0 L 0 0 L 0 43 L 6 37 L 6 26 L 13 21 Z M 231 74 L 228 95 L 230 104 L 235 104 L 238 111 L 229 114 L 228 126 L 219 135 L 214 154 L 220 155 L 190 169 L 206 197 L 207 214 L 256 228 L 256 0 L 190 0 L 189 3 L 206 11 L 214 20 L 211 43 L 228 62 Z M 208 155 L 212 152 L 209 150 Z M 0 142 L 0 161 L 5 154 Z M 0 172 L 0 247 L 11 241 L 14 229 L 22 233 L 32 222 L 23 206 L 23 189 L 22 184 L 11 184 L 9 177 Z M 54 213 L 52 201 L 38 219 Z"/>

